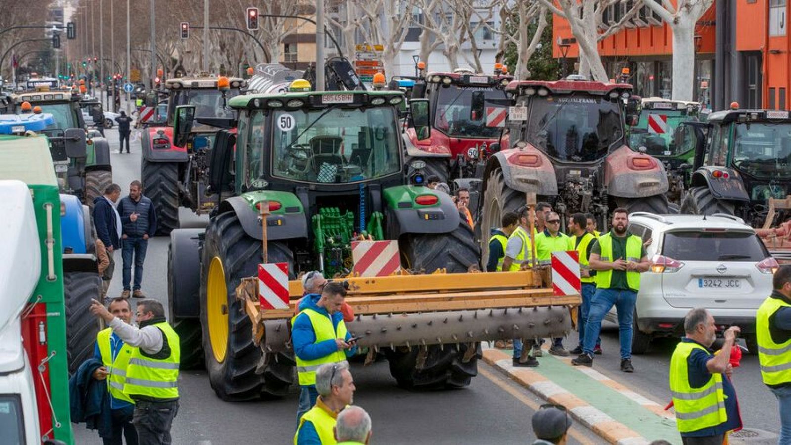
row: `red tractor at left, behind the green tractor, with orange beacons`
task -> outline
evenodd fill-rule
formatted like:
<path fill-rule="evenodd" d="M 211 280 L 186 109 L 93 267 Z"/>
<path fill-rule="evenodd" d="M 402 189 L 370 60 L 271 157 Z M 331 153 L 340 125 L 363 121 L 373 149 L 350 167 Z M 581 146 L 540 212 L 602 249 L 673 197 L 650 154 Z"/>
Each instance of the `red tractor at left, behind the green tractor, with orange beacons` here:
<path fill-rule="evenodd" d="M 168 89 L 165 126 L 146 127 L 141 137 L 141 177 L 146 196 L 157 211 L 157 234 L 169 234 L 179 226 L 180 206 L 198 215 L 214 207 L 205 193 L 209 153 L 217 131 L 232 126 L 236 120 L 228 101 L 245 86 L 247 81 L 241 78 L 209 75 L 165 81 Z M 193 118 L 202 122 L 192 127 L 189 143 L 173 139 L 173 114 L 178 105 L 195 105 Z"/>

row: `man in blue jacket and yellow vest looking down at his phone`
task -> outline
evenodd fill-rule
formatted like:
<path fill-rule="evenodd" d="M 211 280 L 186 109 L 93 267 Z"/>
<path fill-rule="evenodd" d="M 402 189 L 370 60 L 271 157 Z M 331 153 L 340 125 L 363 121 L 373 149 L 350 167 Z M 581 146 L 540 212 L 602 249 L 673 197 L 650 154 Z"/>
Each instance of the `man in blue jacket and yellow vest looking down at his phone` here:
<path fill-rule="evenodd" d="M 291 321 L 291 340 L 297 358 L 301 393 L 297 407 L 297 425 L 301 416 L 316 405 L 316 370 L 325 363 L 346 361 L 357 352 L 355 341 L 346 330 L 341 306 L 346 289 L 329 282 L 319 294 L 302 299 L 299 314 Z"/>

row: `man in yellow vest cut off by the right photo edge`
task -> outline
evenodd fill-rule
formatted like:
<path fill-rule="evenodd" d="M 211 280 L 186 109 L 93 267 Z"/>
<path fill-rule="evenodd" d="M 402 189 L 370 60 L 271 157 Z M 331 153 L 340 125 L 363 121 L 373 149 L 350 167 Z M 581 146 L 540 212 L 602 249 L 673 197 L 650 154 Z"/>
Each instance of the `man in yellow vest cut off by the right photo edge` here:
<path fill-rule="evenodd" d="M 761 378 L 778 398 L 778 443 L 791 443 L 791 265 L 774 272 L 772 287 L 755 315 L 755 340 Z"/>

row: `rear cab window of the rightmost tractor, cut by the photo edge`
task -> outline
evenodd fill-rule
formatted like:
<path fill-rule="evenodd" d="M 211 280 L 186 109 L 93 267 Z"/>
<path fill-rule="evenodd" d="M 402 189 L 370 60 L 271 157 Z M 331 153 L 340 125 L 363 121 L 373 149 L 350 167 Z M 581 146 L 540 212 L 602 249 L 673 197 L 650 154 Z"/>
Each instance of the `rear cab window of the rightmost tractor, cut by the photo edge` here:
<path fill-rule="evenodd" d="M 755 177 L 791 177 L 791 124 L 736 124 L 732 162 Z"/>

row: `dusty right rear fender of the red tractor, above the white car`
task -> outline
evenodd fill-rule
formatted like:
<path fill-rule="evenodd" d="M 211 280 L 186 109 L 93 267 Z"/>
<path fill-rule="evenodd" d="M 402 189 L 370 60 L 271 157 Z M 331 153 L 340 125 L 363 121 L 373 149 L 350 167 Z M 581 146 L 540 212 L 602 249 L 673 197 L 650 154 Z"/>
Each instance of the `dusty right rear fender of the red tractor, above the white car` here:
<path fill-rule="evenodd" d="M 664 195 L 668 191 L 668 172 L 657 158 L 624 145 L 607 155 L 604 184 L 608 195 L 620 198 Z"/>

